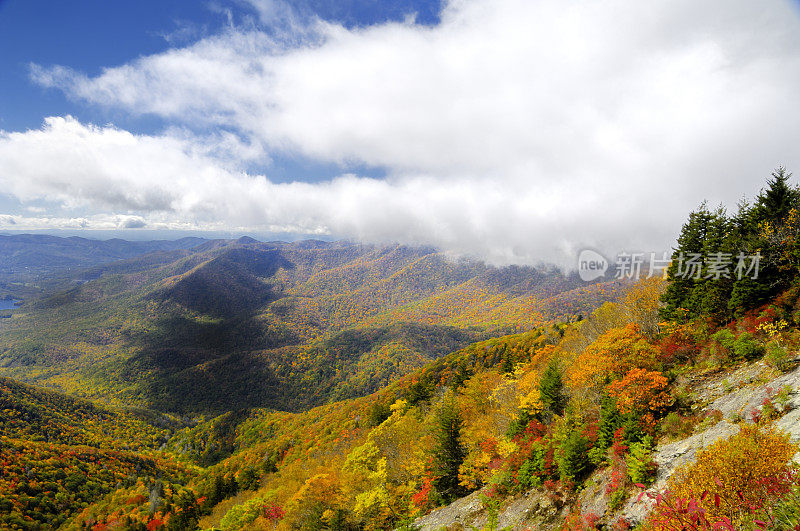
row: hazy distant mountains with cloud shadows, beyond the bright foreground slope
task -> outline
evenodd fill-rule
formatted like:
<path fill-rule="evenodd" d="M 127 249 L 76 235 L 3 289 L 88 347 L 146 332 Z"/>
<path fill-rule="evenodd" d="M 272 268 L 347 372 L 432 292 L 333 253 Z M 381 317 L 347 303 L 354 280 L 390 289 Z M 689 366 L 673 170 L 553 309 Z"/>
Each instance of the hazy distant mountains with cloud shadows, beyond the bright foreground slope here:
<path fill-rule="evenodd" d="M 474 341 L 586 315 L 618 282 L 424 247 L 0 236 L 0 375 L 176 414 L 363 396 Z"/>

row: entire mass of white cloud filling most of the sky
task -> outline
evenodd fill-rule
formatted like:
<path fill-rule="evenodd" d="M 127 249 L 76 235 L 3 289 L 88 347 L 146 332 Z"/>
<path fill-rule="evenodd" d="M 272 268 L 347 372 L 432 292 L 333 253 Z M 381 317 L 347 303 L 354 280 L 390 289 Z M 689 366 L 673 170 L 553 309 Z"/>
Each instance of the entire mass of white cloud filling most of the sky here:
<path fill-rule="evenodd" d="M 452 0 L 435 27 L 354 30 L 256 4 L 280 31 L 231 27 L 93 78 L 32 70 L 92 104 L 236 135 L 51 118 L 4 133 L 0 181 L 23 198 L 535 262 L 660 250 L 701 199 L 752 195 L 778 164 L 800 172 L 788 1 Z M 276 152 L 390 178 L 239 171 Z"/>

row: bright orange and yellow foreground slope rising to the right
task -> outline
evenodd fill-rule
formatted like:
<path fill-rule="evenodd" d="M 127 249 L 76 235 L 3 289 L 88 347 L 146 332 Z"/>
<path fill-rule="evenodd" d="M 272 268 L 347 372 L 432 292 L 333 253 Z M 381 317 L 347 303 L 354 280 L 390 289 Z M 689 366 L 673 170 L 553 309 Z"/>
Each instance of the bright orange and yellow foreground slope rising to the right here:
<path fill-rule="evenodd" d="M 800 201 L 784 175 L 748 210 L 768 212 L 777 196 L 788 215 L 754 214 L 752 239 L 735 242 L 768 264 L 800 238 L 787 230 Z M 686 242 L 697 217 L 682 231 L 675 262 L 694 252 Z M 773 230 L 790 236 L 765 237 Z M 231 456 L 197 482 L 219 501 L 200 526 L 495 529 L 502 516 L 517 529 L 795 528 L 798 441 L 776 426 L 794 415 L 797 390 L 759 385 L 796 381 L 798 272 L 793 262 L 764 276 L 750 271 L 750 293 L 761 295 L 720 291 L 711 307 L 692 305 L 704 299 L 693 294 L 714 286 L 707 270 L 682 284 L 673 267 L 666 282 L 641 280 L 585 320 L 476 343 L 368 399 L 301 414 L 253 412 L 229 432 Z M 714 409 L 727 399 L 746 407 Z M 173 448 L 181 459 L 207 460 L 217 428 L 212 421 L 181 432 Z M 693 434 L 708 434 L 696 459 L 665 468 L 659 449 Z M 646 490 L 655 480 L 659 490 Z M 226 493 L 215 487 L 231 482 L 236 489 Z M 436 516 L 470 492 L 472 505 L 442 513 L 457 517 Z"/>

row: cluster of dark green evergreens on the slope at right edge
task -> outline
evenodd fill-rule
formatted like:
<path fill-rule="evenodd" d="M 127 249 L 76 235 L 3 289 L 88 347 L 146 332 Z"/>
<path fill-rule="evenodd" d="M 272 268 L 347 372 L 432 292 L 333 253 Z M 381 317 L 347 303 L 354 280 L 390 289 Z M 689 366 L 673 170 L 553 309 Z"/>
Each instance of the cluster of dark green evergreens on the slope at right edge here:
<path fill-rule="evenodd" d="M 800 272 L 800 191 L 778 168 L 735 214 L 704 202 L 681 230 L 668 269 L 662 314 L 729 322 L 772 301 Z"/>

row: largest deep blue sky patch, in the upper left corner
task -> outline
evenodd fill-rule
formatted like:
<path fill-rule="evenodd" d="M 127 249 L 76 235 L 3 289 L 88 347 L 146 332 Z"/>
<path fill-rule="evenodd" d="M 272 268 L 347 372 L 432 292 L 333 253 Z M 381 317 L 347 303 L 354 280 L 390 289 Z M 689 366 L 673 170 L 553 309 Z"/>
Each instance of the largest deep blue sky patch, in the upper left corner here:
<path fill-rule="evenodd" d="M 197 9 L 194 2 L 0 2 L 0 123 L 4 129 L 20 130 L 39 127 L 43 116 L 65 113 L 108 119 L 92 106 L 33 84 L 29 65 L 71 65 L 97 74 L 105 66 L 167 49 L 164 35 L 180 28 L 181 21 L 212 28 L 223 20 L 219 13 Z"/>

